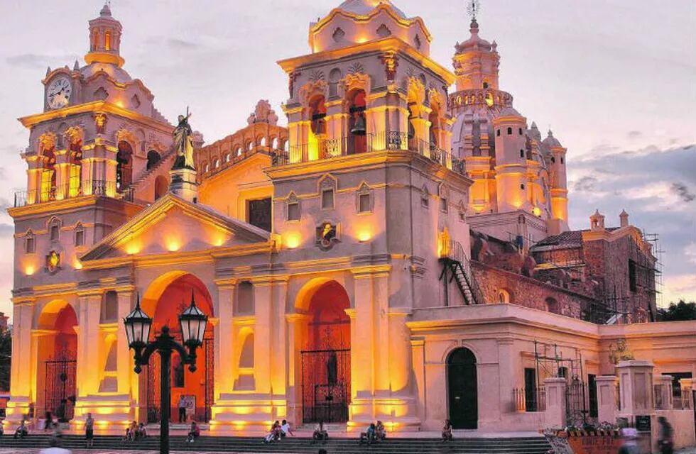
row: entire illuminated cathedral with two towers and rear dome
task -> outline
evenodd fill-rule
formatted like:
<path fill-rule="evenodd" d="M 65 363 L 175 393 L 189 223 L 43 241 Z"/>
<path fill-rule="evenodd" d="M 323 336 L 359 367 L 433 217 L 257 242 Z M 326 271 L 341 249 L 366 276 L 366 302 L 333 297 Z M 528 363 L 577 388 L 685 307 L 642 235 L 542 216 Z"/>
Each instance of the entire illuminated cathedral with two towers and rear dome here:
<path fill-rule="evenodd" d="M 624 371 L 690 392 L 695 326 L 655 321 L 653 244 L 625 211 L 570 230 L 567 149 L 501 89 L 475 11 L 450 67 L 420 17 L 344 1 L 278 62 L 282 111 L 261 100 L 212 143 L 189 131 L 192 156 L 187 117 L 124 69 L 123 33 L 105 5 L 85 65 L 49 69 L 20 118 L 6 424 L 92 413 L 120 432 L 185 399 L 219 433 L 537 431 L 626 414 L 604 394 Z M 122 319 L 138 304 L 151 337 L 181 338 L 191 294 L 197 368 L 175 355 L 160 402 L 159 360 L 134 372 Z"/>

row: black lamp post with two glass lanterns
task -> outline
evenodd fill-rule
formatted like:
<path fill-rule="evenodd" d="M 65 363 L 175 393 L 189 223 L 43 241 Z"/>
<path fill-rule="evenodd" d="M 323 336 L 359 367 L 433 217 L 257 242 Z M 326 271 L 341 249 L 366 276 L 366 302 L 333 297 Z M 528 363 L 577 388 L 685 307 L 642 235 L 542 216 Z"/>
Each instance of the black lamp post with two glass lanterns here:
<path fill-rule="evenodd" d="M 140 296 L 136 308 L 124 319 L 128 346 L 135 352 L 135 372 L 139 374 L 143 365 L 148 364 L 151 355 L 160 355 L 160 402 L 162 406 L 160 423 L 160 453 L 169 454 L 169 417 L 171 412 L 171 360 L 176 350 L 188 370 L 196 371 L 196 349 L 203 343 L 207 315 L 196 307 L 191 291 L 191 304 L 179 316 L 183 345 L 174 340 L 169 333 L 169 326 L 163 326 L 162 332 L 154 341 L 148 341 L 152 319 L 140 307 Z"/>

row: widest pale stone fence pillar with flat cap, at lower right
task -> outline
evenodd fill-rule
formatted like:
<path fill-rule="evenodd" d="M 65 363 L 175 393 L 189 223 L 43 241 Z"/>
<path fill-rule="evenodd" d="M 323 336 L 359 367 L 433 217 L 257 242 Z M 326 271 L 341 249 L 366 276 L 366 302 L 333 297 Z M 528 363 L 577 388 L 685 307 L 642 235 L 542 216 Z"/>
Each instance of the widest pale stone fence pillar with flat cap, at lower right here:
<path fill-rule="evenodd" d="M 619 382 L 621 383 L 621 416 L 633 421 L 636 414 L 652 414 L 653 402 L 653 363 L 643 360 L 619 362 Z"/>

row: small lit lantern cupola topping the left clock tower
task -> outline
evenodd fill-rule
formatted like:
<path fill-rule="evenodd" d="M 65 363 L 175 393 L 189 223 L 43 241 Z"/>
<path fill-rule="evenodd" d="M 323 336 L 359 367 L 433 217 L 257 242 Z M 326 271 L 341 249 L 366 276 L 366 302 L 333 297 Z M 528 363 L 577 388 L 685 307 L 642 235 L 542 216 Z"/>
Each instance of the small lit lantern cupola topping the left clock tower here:
<path fill-rule="evenodd" d="M 121 48 L 121 23 L 112 17 L 109 1 L 104 4 L 99 17 L 89 21 L 89 52 L 85 55 L 87 65 L 111 63 L 119 68 L 124 65 Z"/>

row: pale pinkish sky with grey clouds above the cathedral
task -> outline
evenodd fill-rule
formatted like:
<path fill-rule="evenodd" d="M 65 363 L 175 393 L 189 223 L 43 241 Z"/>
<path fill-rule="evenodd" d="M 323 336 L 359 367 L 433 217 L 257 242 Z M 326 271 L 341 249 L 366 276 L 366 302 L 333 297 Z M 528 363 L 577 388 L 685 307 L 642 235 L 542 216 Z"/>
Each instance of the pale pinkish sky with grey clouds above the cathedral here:
<path fill-rule="evenodd" d="M 480 0 L 480 35 L 496 40 L 500 87 L 567 148 L 570 226 L 607 224 L 621 209 L 658 233 L 665 303 L 696 300 L 696 0 Z M 309 53 L 308 26 L 339 0 L 112 0 L 121 56 L 170 121 L 190 106 L 213 142 L 246 125 L 259 99 L 283 118 L 276 61 Z M 469 38 L 462 0 L 394 0 L 433 35 L 451 68 Z M 46 67 L 84 64 L 87 21 L 102 0 L 0 0 L 0 311 L 11 314 L 13 225 L 5 209 L 26 187 L 16 118 L 43 107 Z M 281 121 L 283 121 L 281 119 Z"/>

